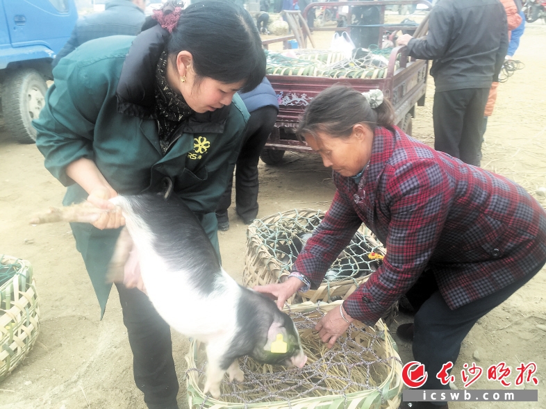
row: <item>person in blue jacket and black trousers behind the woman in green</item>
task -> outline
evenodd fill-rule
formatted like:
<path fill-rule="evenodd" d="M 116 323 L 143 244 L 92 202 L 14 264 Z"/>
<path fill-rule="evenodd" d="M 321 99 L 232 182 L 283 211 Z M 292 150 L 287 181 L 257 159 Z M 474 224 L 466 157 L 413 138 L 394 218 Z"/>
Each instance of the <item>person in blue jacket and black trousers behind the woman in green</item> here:
<path fill-rule="evenodd" d="M 267 78 L 263 78 L 254 90 L 239 96 L 250 113 L 250 119 L 235 168 L 235 211 L 245 224 L 251 224 L 258 215 L 258 160 L 275 126 L 279 101 Z M 229 229 L 227 210 L 231 206 L 232 188 L 233 178 L 229 178 L 229 185 L 216 208 L 218 230 L 221 231 Z"/>

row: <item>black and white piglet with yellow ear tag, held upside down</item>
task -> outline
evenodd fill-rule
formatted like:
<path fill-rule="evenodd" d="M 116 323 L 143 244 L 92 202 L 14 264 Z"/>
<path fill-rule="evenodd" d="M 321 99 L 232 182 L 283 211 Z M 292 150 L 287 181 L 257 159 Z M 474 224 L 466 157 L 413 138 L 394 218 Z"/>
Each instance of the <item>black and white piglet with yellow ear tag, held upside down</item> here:
<path fill-rule="evenodd" d="M 222 269 L 197 217 L 181 199 L 173 196 L 165 201 L 141 194 L 110 201 L 122 208 L 129 232 L 119 236 L 111 265 L 122 267 L 134 244 L 142 281 L 160 316 L 176 331 L 206 343 L 205 393 L 219 397 L 226 372 L 231 381 L 242 381 L 240 356 L 270 364 L 305 365 L 307 357 L 292 319 L 274 301 L 238 285 Z M 83 209 L 65 208 L 70 215 L 59 219 L 94 222 L 104 211 L 90 210 L 87 204 Z M 46 219 L 33 223 L 53 221 Z M 276 349 L 279 342 L 281 348 Z"/>

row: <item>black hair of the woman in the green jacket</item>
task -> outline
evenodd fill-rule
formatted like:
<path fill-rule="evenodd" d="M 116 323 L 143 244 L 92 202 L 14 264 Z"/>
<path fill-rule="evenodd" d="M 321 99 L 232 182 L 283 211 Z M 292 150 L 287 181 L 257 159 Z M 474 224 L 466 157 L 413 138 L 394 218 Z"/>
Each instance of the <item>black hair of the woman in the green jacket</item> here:
<path fill-rule="evenodd" d="M 142 31 L 156 24 L 147 19 Z M 192 54 L 197 83 L 204 77 L 222 83 L 245 81 L 242 92 L 248 92 L 265 76 L 256 24 L 247 10 L 227 0 L 199 1 L 183 10 L 166 49 L 173 63 L 180 51 Z"/>

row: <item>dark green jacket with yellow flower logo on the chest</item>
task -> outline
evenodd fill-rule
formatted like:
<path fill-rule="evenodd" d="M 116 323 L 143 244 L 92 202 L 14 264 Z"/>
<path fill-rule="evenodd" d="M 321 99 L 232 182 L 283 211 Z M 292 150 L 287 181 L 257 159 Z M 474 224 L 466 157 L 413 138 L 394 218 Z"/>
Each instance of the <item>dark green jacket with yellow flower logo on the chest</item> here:
<path fill-rule="evenodd" d="M 131 48 L 126 62 L 129 48 L 139 41 L 148 52 L 145 58 L 131 60 L 131 55 L 142 56 L 142 49 Z M 218 251 L 214 212 L 233 174 L 249 114 L 235 94 L 231 106 L 196 114 L 183 123 L 163 156 L 150 106 L 155 81 L 151 73 L 162 50 L 161 35 L 149 31 L 138 37 L 92 40 L 63 58 L 53 70 L 55 83 L 47 92 L 40 118 L 33 122 L 38 131 L 36 145 L 49 172 L 68 187 L 65 205 L 88 196 L 65 173 L 78 158 L 93 160 L 120 194 L 161 191 L 168 176 L 174 194 L 195 212 Z M 129 75 L 123 75 L 122 69 Z M 120 77 L 124 83 L 119 83 Z M 72 231 L 102 317 L 111 288 L 106 269 L 119 230 L 100 231 L 90 224 L 74 223 Z"/>

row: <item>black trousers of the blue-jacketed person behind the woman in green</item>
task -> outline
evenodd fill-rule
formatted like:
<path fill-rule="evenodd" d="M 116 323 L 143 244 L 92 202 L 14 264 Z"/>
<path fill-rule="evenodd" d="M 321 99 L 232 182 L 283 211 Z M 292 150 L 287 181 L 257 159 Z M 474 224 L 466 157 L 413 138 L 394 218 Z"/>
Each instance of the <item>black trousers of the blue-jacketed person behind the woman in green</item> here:
<path fill-rule="evenodd" d="M 235 206 L 237 214 L 245 223 L 256 219 L 258 215 L 258 160 L 275 125 L 277 110 L 273 106 L 264 106 L 250 112 L 250 119 L 242 142 L 241 151 L 235 166 Z M 216 208 L 218 222 L 227 222 L 227 210 L 231 206 L 233 178 L 220 198 Z"/>

